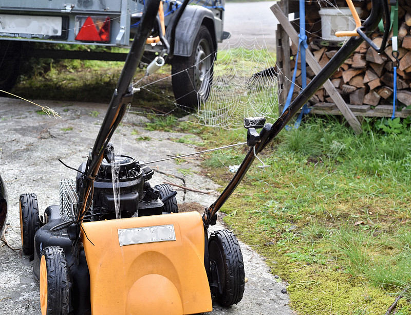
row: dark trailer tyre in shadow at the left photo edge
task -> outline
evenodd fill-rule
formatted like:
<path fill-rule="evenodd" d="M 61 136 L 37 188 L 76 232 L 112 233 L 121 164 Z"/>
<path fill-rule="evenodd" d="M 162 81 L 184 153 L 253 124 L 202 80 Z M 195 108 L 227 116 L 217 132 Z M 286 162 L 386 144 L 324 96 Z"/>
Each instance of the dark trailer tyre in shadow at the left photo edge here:
<path fill-rule="evenodd" d="M 0 41 L 0 89 L 9 91 L 16 84 L 20 73 L 20 55 L 22 45 L 19 42 Z M 1 92 L 0 92 L 1 93 Z M 7 94 L 2 93 L 0 96 Z"/>

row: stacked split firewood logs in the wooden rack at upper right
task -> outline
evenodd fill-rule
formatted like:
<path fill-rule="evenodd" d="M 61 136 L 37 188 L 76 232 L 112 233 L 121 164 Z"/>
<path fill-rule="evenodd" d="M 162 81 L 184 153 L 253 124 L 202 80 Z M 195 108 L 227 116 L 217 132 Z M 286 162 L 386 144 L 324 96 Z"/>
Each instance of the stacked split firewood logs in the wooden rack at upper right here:
<path fill-rule="evenodd" d="M 318 9 L 315 5 L 308 6 L 306 9 L 308 11 L 307 16 L 309 16 L 307 18 L 307 29 L 310 29 L 310 26 L 314 29 L 320 23 L 319 14 L 315 12 Z M 362 17 L 366 17 L 370 8 L 363 7 L 362 9 Z M 393 56 L 390 41 L 388 41 L 385 51 L 381 54 L 364 42 L 340 69 L 332 75 L 332 84 L 340 92 L 347 104 L 367 104 L 371 106 L 392 104 L 394 66 L 397 66 L 397 99 L 406 106 L 411 105 L 411 0 L 400 0 L 398 17 L 398 62 Z M 321 41 L 321 38 L 319 39 L 319 33 L 320 31 L 314 31 L 308 34 L 308 49 L 313 53 L 316 61 L 321 66 L 324 66 L 338 51 L 339 47 L 323 46 L 324 41 Z M 391 36 L 392 32 L 389 38 Z M 382 33 L 375 32 L 372 34 L 372 41 L 377 46 L 380 46 Z M 296 47 L 291 46 L 292 55 L 295 55 L 296 51 Z M 301 65 L 299 63 L 300 60 L 298 60 L 296 84 L 301 86 Z M 292 69 L 294 64 L 295 61 L 292 61 Z M 308 67 L 307 83 L 313 77 L 314 73 Z M 294 96 L 296 94 L 297 92 L 295 92 Z M 311 104 L 321 102 L 333 102 L 324 88 L 318 90 L 310 100 Z"/>

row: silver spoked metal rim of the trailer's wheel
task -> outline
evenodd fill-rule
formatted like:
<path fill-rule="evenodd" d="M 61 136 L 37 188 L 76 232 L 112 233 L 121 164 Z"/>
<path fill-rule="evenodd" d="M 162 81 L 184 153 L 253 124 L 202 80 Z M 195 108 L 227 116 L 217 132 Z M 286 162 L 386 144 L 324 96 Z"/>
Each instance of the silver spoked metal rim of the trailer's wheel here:
<path fill-rule="evenodd" d="M 202 39 L 196 49 L 194 84 L 200 96 L 206 94 L 210 78 L 211 57 L 207 40 Z"/>

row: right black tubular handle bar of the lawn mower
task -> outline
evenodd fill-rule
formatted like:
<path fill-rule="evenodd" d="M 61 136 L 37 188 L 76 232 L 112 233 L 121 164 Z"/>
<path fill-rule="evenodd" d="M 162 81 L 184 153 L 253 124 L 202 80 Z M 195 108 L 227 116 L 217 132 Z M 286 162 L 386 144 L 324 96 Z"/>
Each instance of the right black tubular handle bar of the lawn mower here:
<path fill-rule="evenodd" d="M 349 0 L 348 0 L 349 1 Z M 370 15 L 364 24 L 361 26 L 366 33 L 370 33 L 375 30 L 378 26 L 379 21 L 383 15 L 384 2 L 386 0 L 371 0 L 372 8 Z M 388 6 L 387 6 L 388 7 Z M 389 16 L 388 20 L 389 21 Z M 389 28 L 389 23 L 386 23 L 386 28 Z M 389 31 L 389 30 L 388 30 Z M 283 114 L 273 123 L 267 123 L 261 129 L 259 134 L 260 142 L 251 147 L 248 151 L 246 157 L 242 161 L 240 167 L 235 173 L 234 177 L 231 179 L 227 187 L 218 196 L 214 203 L 206 208 L 202 216 L 202 220 L 205 227 L 209 227 L 210 224 L 214 224 L 216 220 L 215 214 L 222 207 L 222 205 L 231 196 L 234 190 L 237 188 L 238 184 L 244 178 L 247 171 L 249 170 L 251 164 L 255 160 L 255 154 L 260 153 L 265 149 L 265 147 L 278 135 L 280 131 L 287 125 L 292 117 L 297 114 L 305 103 L 310 99 L 310 97 L 319 89 L 330 77 L 331 75 L 344 63 L 344 61 L 357 49 L 358 46 L 363 42 L 361 36 L 351 37 L 347 43 L 335 53 L 334 57 L 324 66 L 324 68 L 307 84 L 306 88 L 301 91 L 301 93 L 292 101 L 289 107 L 287 107 Z M 385 47 L 385 46 L 384 46 Z"/>

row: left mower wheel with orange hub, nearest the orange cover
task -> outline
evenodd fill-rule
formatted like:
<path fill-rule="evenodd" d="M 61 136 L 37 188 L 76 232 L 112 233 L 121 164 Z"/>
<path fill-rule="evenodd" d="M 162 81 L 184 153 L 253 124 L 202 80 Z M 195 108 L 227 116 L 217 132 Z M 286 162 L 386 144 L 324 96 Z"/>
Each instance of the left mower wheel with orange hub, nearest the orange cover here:
<path fill-rule="evenodd" d="M 40 260 L 42 315 L 67 315 L 69 280 L 66 255 L 61 247 L 49 246 Z"/>

